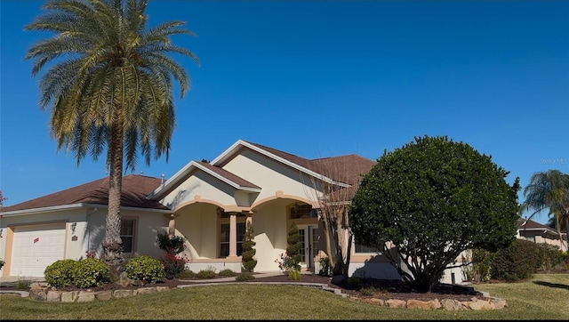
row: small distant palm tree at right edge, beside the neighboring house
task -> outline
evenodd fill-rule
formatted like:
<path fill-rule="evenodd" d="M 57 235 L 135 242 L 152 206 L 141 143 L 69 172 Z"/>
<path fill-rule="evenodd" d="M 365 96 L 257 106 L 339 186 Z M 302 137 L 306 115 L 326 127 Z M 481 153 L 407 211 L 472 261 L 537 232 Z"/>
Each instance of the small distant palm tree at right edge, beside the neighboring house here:
<path fill-rule="evenodd" d="M 551 219 L 555 219 L 557 233 L 563 250 L 562 222 L 565 221 L 565 231 L 569 227 L 569 174 L 559 170 L 533 173 L 530 183 L 524 189 L 525 201 L 520 206 L 520 212 L 533 210 L 528 219 L 535 213 L 548 209 Z M 565 250 L 567 244 L 565 244 Z"/>

